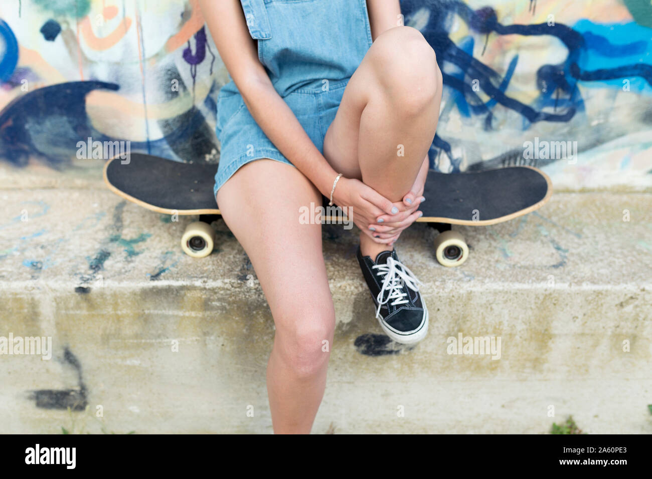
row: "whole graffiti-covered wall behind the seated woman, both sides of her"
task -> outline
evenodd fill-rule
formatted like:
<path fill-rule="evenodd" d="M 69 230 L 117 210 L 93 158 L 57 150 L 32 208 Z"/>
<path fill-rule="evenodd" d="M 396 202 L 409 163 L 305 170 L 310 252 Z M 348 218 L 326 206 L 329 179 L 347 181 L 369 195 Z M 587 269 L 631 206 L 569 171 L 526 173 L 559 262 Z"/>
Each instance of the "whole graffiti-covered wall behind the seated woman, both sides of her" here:
<path fill-rule="evenodd" d="M 652 187 L 649 0 L 401 5 L 444 77 L 432 167 Z M 228 78 L 197 0 L 3 0 L 0 18 L 0 162 L 66 171 L 87 138 L 218 161 Z"/>

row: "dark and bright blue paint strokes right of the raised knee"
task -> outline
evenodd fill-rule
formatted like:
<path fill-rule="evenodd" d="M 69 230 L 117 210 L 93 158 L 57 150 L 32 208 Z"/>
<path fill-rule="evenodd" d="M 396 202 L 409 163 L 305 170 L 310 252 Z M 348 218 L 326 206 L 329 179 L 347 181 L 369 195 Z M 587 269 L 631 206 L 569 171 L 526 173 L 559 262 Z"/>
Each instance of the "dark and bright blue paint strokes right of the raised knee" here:
<path fill-rule="evenodd" d="M 404 14 L 409 18 L 421 10 L 423 2 L 405 0 L 401 5 Z M 496 10 L 491 7 L 473 10 L 459 0 L 432 0 L 428 3 L 428 8 L 430 16 L 421 31 L 437 53 L 443 83 L 445 87 L 459 93 L 454 98 L 463 116 L 469 111 L 473 115 L 485 115 L 486 130 L 492 128 L 491 107 L 495 104 L 522 115 L 524 129 L 539 121 L 570 121 L 578 111 L 584 111 L 584 100 L 577 87 L 578 81 L 604 82 L 622 87 L 623 78 L 638 78 L 640 80 L 630 87 L 645 93 L 649 93 L 649 86 L 652 85 L 652 66 L 644 63 L 649 61 L 651 51 L 650 29 L 641 25 L 627 24 L 615 27 L 595 25 L 591 22 L 578 22 L 574 28 L 562 23 L 503 25 L 499 22 Z M 531 11 L 534 8 L 535 2 L 531 2 Z M 523 104 L 505 94 L 503 86 L 507 74 L 505 78 L 501 78 L 492 68 L 473 58 L 472 50 L 469 50 L 469 40 L 465 38 L 460 45 L 452 42 L 449 31 L 450 19 L 453 16 L 466 22 L 471 31 L 486 35 L 486 38 L 490 38 L 490 35 L 557 38 L 567 48 L 568 55 L 559 65 L 542 65 L 539 68 L 537 87 L 541 94 L 532 106 Z M 607 33 L 609 40 L 606 38 Z M 460 72 L 464 72 L 464 75 Z M 482 91 L 492 98 L 490 102 L 482 103 L 479 96 L 473 92 L 469 84 L 473 80 L 477 80 Z M 630 82 L 633 83 L 633 80 Z M 464 108 L 464 102 L 467 102 L 468 108 Z M 550 106 L 554 108 L 554 113 L 544 111 Z M 449 156 L 455 171 L 459 159 L 452 158 L 450 143 L 435 136 L 433 145 Z"/>

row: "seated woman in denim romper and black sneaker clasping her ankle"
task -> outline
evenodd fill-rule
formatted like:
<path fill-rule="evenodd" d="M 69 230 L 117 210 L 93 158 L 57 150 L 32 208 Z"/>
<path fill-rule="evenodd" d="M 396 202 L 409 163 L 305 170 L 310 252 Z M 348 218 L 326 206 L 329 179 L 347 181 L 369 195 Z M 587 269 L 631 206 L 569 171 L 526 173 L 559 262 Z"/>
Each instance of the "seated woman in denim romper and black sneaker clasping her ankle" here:
<path fill-rule="evenodd" d="M 441 72 L 398 0 L 200 0 L 232 81 L 218 95 L 216 201 L 256 270 L 276 325 L 267 391 L 276 433 L 308 433 L 335 313 L 322 195 L 353 211 L 358 261 L 393 340 L 428 329 L 419 281 L 394 242 L 419 216 Z M 323 348 L 323 341 L 331 345 Z"/>

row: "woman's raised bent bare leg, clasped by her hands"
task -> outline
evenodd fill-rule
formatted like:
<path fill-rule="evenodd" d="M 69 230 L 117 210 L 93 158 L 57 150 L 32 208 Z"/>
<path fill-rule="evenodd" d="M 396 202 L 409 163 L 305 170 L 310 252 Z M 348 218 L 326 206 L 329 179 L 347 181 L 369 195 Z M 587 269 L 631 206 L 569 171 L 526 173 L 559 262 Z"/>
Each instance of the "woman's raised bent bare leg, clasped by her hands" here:
<path fill-rule="evenodd" d="M 344 176 L 402 201 L 432 144 L 440 102 L 434 50 L 416 29 L 389 29 L 351 76 L 324 139 L 324 156 Z M 365 255 L 388 249 L 367 235 L 360 239 Z"/>

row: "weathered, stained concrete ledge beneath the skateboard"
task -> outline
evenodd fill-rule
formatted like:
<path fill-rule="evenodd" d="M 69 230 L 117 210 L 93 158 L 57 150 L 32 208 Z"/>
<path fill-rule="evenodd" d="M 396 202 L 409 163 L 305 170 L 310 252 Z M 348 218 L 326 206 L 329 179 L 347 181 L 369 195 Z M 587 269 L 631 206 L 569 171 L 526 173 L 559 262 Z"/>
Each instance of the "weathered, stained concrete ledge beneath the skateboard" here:
<path fill-rule="evenodd" d="M 0 433 L 271 431 L 273 322 L 224 224 L 197 260 L 178 246 L 192 218 L 104 189 L 0 200 L 0 336 L 52 336 L 54 350 L 0 356 Z M 325 227 L 338 326 L 314 431 L 542 433 L 573 414 L 589 433 L 651 433 L 652 196 L 556 194 L 458 230 L 471 246 L 459 269 L 436 263 L 425 225 L 397 243 L 430 308 L 428 338 L 406 349 L 381 343 L 355 236 Z M 499 336 L 501 358 L 447 354 L 459 332 Z M 74 405 L 65 390 L 89 410 L 44 407 Z"/>

